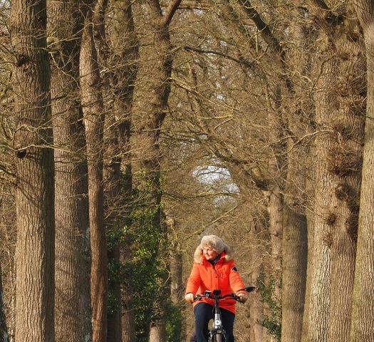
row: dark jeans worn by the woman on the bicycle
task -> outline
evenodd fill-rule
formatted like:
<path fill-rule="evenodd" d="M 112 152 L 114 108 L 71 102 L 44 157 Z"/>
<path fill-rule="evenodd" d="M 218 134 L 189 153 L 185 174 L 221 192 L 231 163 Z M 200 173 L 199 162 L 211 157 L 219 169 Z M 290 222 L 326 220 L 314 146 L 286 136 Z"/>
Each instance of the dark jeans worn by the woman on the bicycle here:
<path fill-rule="evenodd" d="M 222 326 L 226 331 L 226 342 L 235 342 L 233 330 L 235 315 L 226 309 L 220 309 Z M 194 306 L 194 323 L 197 342 L 207 342 L 208 323 L 213 318 L 213 306 L 207 303 L 199 303 Z"/>

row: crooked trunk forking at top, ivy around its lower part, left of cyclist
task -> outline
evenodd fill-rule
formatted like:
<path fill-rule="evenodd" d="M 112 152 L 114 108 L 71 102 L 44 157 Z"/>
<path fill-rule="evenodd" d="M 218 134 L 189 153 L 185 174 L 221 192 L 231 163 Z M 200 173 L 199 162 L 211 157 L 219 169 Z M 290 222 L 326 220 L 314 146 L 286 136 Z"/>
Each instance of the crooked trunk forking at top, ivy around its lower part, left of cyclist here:
<path fill-rule="evenodd" d="M 145 155 L 141 162 L 141 170 L 145 174 L 145 182 L 149 184 L 149 205 L 153 214 L 153 224 L 161 234 L 165 237 L 161 227 L 161 187 L 160 187 L 160 130 L 167 112 L 167 103 L 170 95 L 170 77 L 172 74 L 172 46 L 170 42 L 169 24 L 175 14 L 181 0 L 172 0 L 169 7 L 162 14 L 159 1 L 149 1 L 150 22 L 154 34 L 155 67 L 154 73 L 150 76 L 152 98 L 148 115 L 142 129 L 143 141 L 145 141 Z M 155 256 L 158 257 L 158 256 Z M 157 280 L 155 280 L 157 282 Z M 160 296 L 162 297 L 162 296 Z M 150 324 L 150 341 L 165 341 L 165 318 L 163 318 L 164 305 L 161 302 L 155 304 L 157 308 L 157 321 Z"/>

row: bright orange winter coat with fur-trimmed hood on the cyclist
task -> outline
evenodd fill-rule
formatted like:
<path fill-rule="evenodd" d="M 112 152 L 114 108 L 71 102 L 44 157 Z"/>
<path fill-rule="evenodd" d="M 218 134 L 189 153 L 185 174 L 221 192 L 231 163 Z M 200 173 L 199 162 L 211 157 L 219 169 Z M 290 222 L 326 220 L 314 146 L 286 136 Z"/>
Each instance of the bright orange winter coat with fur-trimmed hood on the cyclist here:
<path fill-rule="evenodd" d="M 202 254 L 202 250 L 199 252 L 198 247 L 195 252 L 194 266 L 187 281 L 186 294 L 203 294 L 204 291 L 213 292 L 213 290 L 219 289 L 221 290 L 220 296 L 223 296 L 224 294 L 237 292 L 244 287 L 234 259 L 229 254 L 222 252 L 221 257 L 213 267 Z M 241 292 L 246 293 L 246 291 L 239 291 L 238 294 Z M 201 302 L 214 305 L 214 299 L 203 299 L 202 301 L 195 301 L 194 306 Z M 235 314 L 236 303 L 234 299 L 228 297 L 219 301 L 219 307 Z"/>

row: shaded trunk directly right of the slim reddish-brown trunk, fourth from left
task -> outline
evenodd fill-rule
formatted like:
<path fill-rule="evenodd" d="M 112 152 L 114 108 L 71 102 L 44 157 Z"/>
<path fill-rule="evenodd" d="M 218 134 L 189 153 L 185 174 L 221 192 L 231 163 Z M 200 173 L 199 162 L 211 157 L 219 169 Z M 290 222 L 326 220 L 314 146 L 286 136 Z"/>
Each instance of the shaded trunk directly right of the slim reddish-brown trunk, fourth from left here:
<path fill-rule="evenodd" d="M 103 33 L 101 33 L 103 36 Z M 131 1 L 113 1 L 113 29 L 110 38 L 114 42 L 110 70 L 110 92 L 113 96 L 112 118 L 108 121 L 110 133 L 105 167 L 105 197 L 110 214 L 107 229 L 130 227 L 130 202 L 133 180 L 131 166 L 131 112 L 133 108 L 134 84 L 137 77 L 138 41 L 133 23 Z M 101 43 L 100 46 L 105 46 Z M 109 51 L 106 51 L 109 53 Z M 105 53 L 101 53 L 102 56 Z M 121 168 L 123 171 L 121 171 Z M 121 209 L 113 209 L 115 207 Z M 113 264 L 128 262 L 131 258 L 128 236 L 121 242 L 113 242 L 108 251 Z M 116 277 L 115 277 L 116 278 Z M 108 315 L 108 339 L 113 342 L 135 340 L 135 315 L 131 281 L 110 279 L 110 289 L 115 296 L 115 308 Z"/>

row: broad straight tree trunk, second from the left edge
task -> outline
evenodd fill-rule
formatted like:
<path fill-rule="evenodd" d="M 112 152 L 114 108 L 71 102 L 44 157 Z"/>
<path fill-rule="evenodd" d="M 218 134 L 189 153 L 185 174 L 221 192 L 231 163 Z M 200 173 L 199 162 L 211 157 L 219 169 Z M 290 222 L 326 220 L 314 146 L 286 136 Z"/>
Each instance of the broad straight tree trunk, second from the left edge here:
<path fill-rule="evenodd" d="M 83 13 L 78 1 L 48 5 L 56 162 L 56 341 L 92 341 L 90 239 L 85 130 L 79 53 Z"/>

